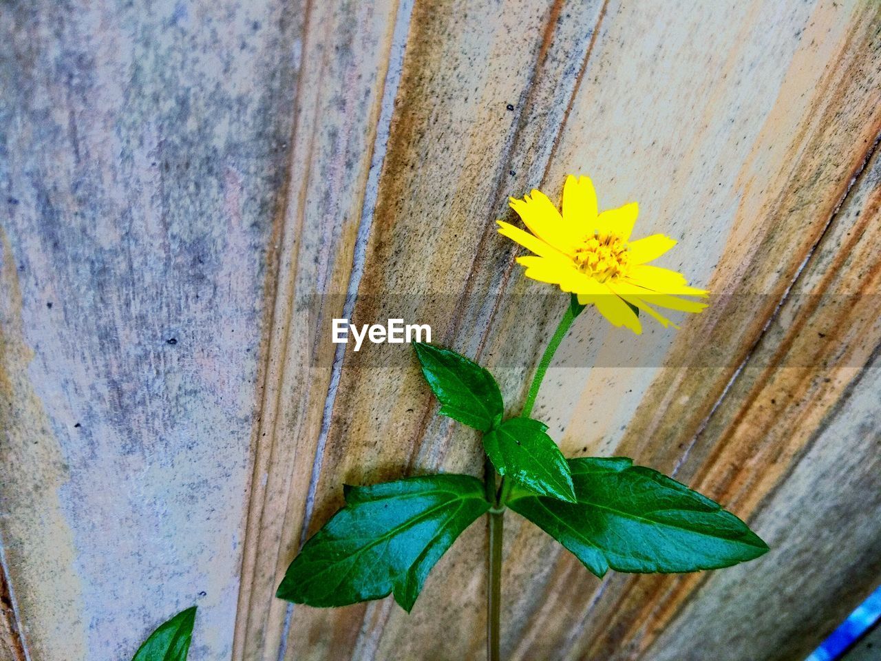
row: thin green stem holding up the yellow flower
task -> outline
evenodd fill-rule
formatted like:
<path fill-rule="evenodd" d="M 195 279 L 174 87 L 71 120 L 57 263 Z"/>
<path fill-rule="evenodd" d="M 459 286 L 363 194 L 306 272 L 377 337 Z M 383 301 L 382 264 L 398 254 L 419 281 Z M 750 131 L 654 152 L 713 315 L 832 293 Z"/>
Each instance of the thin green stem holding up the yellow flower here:
<path fill-rule="evenodd" d="M 529 393 L 526 396 L 526 402 L 520 415 L 523 418 L 529 416 L 532 412 L 532 406 L 536 403 L 538 389 L 542 385 L 544 374 L 551 365 L 553 354 L 557 352 L 560 342 L 563 341 L 569 326 L 575 321 L 575 317 L 581 312 L 581 307 L 576 307 L 577 301 L 566 307 L 563 318 L 559 320 L 557 331 L 554 332 L 551 341 L 544 350 L 542 360 L 538 363 L 536 374 L 532 377 L 532 383 L 529 384 Z M 500 661 L 500 613 L 501 613 L 501 543 L 502 532 L 505 524 L 505 503 L 507 496 L 511 491 L 510 480 L 501 479 L 499 488 L 496 489 L 496 471 L 490 462 L 489 457 L 486 458 L 484 485 L 486 489 L 486 500 L 492 502 L 492 508 L 488 513 L 486 521 L 486 532 L 489 538 L 489 545 L 486 552 L 486 566 L 489 574 L 489 585 L 486 590 L 486 661 Z"/>

